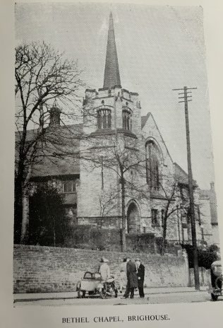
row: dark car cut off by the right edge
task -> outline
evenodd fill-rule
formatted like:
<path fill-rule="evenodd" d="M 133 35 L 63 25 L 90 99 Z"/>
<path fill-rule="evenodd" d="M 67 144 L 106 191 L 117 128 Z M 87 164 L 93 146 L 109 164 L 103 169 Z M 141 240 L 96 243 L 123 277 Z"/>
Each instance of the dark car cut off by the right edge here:
<path fill-rule="evenodd" d="M 210 268 L 210 276 L 211 276 L 211 297 L 212 300 L 217 300 L 219 296 L 223 296 L 222 290 L 222 263 L 221 261 L 215 261 L 212 263 Z"/>

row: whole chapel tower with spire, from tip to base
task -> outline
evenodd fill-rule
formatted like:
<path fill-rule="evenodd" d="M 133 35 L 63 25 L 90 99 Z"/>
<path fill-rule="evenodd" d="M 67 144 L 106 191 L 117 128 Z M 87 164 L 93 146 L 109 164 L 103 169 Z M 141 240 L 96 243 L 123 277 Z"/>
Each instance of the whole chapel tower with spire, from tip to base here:
<path fill-rule="evenodd" d="M 119 148 L 121 152 L 127 148 L 138 148 L 141 117 L 138 93 L 121 86 L 112 13 L 109 16 L 103 88 L 85 90 L 83 112 L 80 149 L 85 156 L 95 156 L 97 163 L 92 159 L 80 159 L 78 223 L 97 225 L 100 217 L 106 216 L 103 225 L 118 228 L 121 216 L 120 197 L 116 198 L 116 204 L 111 206 L 111 210 L 105 209 L 102 213 L 103 201 L 107 204 L 107 195 L 109 197 L 112 189 L 115 189 L 114 193 L 117 190 L 119 192 L 120 188 L 118 175 L 103 165 L 103 158 L 114 151 L 114 148 Z"/>

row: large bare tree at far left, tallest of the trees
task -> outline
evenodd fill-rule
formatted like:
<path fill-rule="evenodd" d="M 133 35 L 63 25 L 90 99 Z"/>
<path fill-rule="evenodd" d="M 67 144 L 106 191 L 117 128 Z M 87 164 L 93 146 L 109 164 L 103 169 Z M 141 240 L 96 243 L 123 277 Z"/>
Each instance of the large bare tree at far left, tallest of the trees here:
<path fill-rule="evenodd" d="M 40 160 L 44 148 L 49 108 L 57 100 L 60 107 L 71 108 L 73 115 L 80 101 L 78 90 L 83 86 L 80 73 L 77 61 L 64 59 L 64 54 L 44 42 L 16 47 L 15 242 L 25 238 L 23 200 L 32 165 Z"/>

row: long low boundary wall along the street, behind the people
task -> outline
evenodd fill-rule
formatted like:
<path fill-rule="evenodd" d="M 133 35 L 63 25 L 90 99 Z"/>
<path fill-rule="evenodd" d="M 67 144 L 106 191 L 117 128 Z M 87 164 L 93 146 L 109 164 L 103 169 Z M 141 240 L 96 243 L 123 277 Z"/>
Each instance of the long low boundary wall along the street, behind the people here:
<path fill-rule="evenodd" d="M 101 257 L 109 259 L 111 273 L 119 282 L 123 257 L 135 259 L 136 252 L 108 252 L 72 248 L 15 245 L 13 251 L 13 292 L 52 293 L 76 291 L 85 271 L 97 271 Z M 141 253 L 145 265 L 145 286 L 188 286 L 185 255 Z"/>

